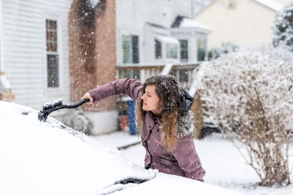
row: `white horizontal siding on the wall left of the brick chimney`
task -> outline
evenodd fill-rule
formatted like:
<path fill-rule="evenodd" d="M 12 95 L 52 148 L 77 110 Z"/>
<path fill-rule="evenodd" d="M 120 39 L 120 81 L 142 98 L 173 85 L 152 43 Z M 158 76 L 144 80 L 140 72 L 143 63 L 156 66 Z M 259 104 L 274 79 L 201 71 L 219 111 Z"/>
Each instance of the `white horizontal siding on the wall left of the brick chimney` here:
<path fill-rule="evenodd" d="M 15 103 L 40 110 L 44 102 L 69 101 L 68 13 L 71 0 L 3 0 L 5 73 Z M 46 87 L 46 18 L 57 20 L 59 89 Z"/>

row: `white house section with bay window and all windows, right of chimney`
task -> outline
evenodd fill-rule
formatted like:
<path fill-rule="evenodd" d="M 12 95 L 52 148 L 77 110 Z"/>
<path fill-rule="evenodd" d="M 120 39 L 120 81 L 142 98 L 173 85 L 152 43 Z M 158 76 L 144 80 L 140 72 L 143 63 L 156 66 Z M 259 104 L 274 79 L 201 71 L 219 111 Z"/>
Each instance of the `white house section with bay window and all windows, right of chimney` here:
<path fill-rule="evenodd" d="M 193 0 L 116 1 L 117 66 L 196 62 L 197 40 L 212 31 L 191 19 L 192 5 Z"/>

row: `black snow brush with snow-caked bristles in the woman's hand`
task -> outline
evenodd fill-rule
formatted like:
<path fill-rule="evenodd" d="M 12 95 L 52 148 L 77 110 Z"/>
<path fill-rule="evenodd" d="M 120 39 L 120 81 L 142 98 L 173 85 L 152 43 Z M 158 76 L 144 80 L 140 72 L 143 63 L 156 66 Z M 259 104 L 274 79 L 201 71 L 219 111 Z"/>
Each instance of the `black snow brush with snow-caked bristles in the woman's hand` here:
<path fill-rule="evenodd" d="M 44 103 L 43 104 L 43 109 L 40 110 L 40 112 L 38 112 L 38 119 L 40 121 L 43 121 L 45 122 L 49 116 L 49 114 L 51 114 L 52 112 L 54 111 L 57 111 L 57 110 L 60 110 L 60 109 L 63 109 L 63 108 L 76 108 L 76 107 L 79 107 L 81 106 L 82 104 L 86 103 L 86 102 L 89 102 L 90 100 L 89 99 L 83 99 L 77 103 L 74 103 L 72 105 L 64 105 L 62 104 L 62 99 L 56 99 L 56 100 L 53 100 L 53 101 L 50 101 L 50 102 L 47 102 L 47 103 Z"/>

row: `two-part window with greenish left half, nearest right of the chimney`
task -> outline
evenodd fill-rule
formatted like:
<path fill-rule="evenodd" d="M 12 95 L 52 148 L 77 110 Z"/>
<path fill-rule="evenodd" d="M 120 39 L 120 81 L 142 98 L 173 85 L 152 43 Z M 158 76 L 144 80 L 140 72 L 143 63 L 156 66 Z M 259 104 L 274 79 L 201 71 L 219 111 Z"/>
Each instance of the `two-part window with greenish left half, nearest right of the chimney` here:
<path fill-rule="evenodd" d="M 139 38 L 137 35 L 122 35 L 123 63 L 139 63 Z"/>

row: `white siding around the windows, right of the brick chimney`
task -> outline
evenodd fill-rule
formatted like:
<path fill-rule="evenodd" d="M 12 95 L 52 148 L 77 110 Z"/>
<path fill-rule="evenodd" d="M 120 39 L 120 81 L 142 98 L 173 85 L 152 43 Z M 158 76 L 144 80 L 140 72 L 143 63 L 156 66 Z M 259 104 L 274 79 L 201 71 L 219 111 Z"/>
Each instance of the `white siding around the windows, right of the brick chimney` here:
<path fill-rule="evenodd" d="M 154 23 L 169 29 L 178 14 L 190 17 L 191 0 L 184 2 L 182 0 L 116 0 L 117 65 L 123 60 L 122 34 L 139 36 L 140 63 L 153 61 L 149 58 L 154 57 L 154 48 L 144 46 L 146 41 L 153 41 L 148 38 L 145 40 L 148 36 L 145 23 Z"/>

